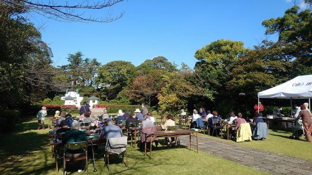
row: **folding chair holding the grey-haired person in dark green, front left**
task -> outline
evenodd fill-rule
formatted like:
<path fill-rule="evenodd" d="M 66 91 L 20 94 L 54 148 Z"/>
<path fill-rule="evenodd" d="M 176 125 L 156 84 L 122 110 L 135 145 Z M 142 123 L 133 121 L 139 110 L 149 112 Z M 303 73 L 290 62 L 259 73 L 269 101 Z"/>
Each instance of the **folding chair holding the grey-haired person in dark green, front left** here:
<path fill-rule="evenodd" d="M 79 155 L 77 157 L 71 157 L 72 154 L 66 154 L 67 150 L 80 150 L 82 149 L 84 152 L 84 155 Z M 64 145 L 64 175 L 67 174 L 66 172 L 66 162 L 69 161 L 81 161 L 85 160 L 85 168 L 84 171 L 87 171 L 88 174 L 88 142 L 87 141 L 81 141 L 81 142 L 69 142 Z"/>

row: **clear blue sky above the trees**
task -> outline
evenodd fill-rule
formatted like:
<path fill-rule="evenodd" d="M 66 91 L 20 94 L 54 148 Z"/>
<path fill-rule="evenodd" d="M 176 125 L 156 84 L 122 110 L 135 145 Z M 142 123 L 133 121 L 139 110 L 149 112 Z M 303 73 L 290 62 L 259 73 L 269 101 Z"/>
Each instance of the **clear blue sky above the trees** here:
<path fill-rule="evenodd" d="M 176 64 L 195 65 L 197 49 L 217 39 L 241 40 L 252 48 L 265 36 L 261 22 L 283 16 L 294 0 L 128 0 L 113 6 L 113 14 L 125 15 L 110 23 L 59 22 L 35 14 L 44 23 L 42 39 L 52 48 L 54 65 L 67 64 L 67 55 L 81 51 L 84 57 L 105 64 L 114 60 L 139 65 L 163 56 Z M 103 16 L 106 11 L 101 12 Z M 87 12 L 87 14 L 91 14 Z M 102 15 L 97 12 L 96 16 Z M 39 22 L 38 22 L 39 21 Z"/>

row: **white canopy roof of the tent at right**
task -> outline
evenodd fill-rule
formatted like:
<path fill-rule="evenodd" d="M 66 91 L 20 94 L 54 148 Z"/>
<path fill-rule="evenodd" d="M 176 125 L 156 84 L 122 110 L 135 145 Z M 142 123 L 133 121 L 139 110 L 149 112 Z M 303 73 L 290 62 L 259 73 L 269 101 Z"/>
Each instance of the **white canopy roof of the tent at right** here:
<path fill-rule="evenodd" d="M 312 75 L 298 76 L 259 92 L 258 98 L 312 98 Z"/>

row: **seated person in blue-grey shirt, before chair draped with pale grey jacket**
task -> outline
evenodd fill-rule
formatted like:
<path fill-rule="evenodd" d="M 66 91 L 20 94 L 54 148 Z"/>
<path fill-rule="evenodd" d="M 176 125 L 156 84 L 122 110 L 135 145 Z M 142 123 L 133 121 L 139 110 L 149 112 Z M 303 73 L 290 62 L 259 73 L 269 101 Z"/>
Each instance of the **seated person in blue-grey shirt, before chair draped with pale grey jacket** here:
<path fill-rule="evenodd" d="M 105 122 L 107 126 L 103 127 L 101 134 L 100 134 L 100 138 L 106 138 L 106 144 L 107 144 L 108 139 L 121 137 L 122 133 L 121 133 L 121 129 L 119 126 L 113 125 L 112 119 L 108 118 L 105 120 Z"/>

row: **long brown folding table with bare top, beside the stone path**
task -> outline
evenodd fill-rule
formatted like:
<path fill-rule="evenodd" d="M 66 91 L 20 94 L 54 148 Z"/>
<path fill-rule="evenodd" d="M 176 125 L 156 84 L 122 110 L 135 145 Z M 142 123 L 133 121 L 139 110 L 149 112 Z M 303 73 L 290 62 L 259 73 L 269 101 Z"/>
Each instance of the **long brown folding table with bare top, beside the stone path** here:
<path fill-rule="evenodd" d="M 152 143 L 153 140 L 156 137 L 170 137 L 170 136 L 183 136 L 183 135 L 189 135 L 190 136 L 190 150 L 191 150 L 191 137 L 196 136 L 196 149 L 198 153 L 198 132 L 197 131 L 191 131 L 191 130 L 177 130 L 177 131 L 156 131 L 155 133 L 147 134 L 142 133 L 146 136 L 150 137 L 150 159 L 152 158 Z M 146 149 L 144 149 L 144 154 L 146 155 Z"/>

